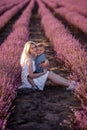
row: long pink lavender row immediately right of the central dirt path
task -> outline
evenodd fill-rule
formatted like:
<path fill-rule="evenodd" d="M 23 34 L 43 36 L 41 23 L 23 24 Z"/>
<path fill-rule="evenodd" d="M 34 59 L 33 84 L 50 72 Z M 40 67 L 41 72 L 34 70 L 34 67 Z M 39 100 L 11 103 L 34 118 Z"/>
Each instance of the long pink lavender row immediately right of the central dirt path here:
<path fill-rule="evenodd" d="M 46 36 L 54 45 L 57 57 L 65 61 L 65 66 L 71 69 L 69 78 L 79 82 L 75 94 L 81 101 L 82 110 L 74 111 L 74 114 L 80 123 L 80 128 L 87 128 L 87 106 L 84 102 L 84 99 L 87 100 L 87 53 L 79 41 L 52 15 L 41 0 L 37 2 L 42 26 Z"/>

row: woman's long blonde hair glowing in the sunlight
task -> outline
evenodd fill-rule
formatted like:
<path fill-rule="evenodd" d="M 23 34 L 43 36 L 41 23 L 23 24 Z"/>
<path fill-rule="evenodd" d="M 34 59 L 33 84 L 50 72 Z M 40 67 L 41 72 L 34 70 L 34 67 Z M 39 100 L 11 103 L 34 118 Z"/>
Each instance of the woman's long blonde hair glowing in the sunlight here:
<path fill-rule="evenodd" d="M 36 46 L 36 43 L 33 42 L 33 41 L 28 41 L 28 42 L 25 43 L 25 46 L 24 46 L 24 49 L 22 51 L 21 58 L 20 58 L 21 66 L 23 66 L 24 61 L 29 58 L 29 55 L 30 55 L 29 50 L 30 50 L 31 44 L 34 44 Z"/>

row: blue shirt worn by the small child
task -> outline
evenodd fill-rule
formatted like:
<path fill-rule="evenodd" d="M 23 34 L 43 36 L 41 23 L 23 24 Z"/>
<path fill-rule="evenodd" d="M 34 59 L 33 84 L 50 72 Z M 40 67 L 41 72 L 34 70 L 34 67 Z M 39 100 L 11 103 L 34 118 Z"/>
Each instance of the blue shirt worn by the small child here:
<path fill-rule="evenodd" d="M 41 68 L 39 65 L 43 63 L 46 60 L 46 55 L 43 53 L 41 55 L 38 55 L 35 58 L 35 66 L 36 66 L 36 71 L 37 73 L 43 72 L 43 68 Z"/>

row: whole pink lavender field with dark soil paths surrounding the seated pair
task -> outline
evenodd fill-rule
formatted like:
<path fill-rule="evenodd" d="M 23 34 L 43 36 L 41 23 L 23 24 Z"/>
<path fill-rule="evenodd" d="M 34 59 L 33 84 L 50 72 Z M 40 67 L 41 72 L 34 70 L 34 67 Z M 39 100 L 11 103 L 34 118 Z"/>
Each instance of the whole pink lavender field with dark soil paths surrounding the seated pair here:
<path fill-rule="evenodd" d="M 74 93 L 47 82 L 18 91 L 27 40 L 44 42 L 50 69 L 78 82 Z M 87 1 L 0 1 L 0 129 L 87 129 Z"/>

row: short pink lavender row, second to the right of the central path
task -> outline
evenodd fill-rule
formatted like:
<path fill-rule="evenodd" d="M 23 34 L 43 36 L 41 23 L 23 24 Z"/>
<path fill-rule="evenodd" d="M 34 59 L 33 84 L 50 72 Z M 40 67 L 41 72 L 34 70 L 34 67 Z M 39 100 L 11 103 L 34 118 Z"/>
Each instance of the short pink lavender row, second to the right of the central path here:
<path fill-rule="evenodd" d="M 87 18 L 77 12 L 69 11 L 67 8 L 55 9 L 55 12 L 65 18 L 70 24 L 87 34 Z"/>

